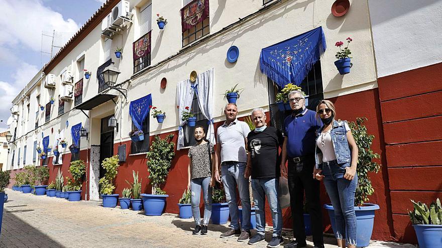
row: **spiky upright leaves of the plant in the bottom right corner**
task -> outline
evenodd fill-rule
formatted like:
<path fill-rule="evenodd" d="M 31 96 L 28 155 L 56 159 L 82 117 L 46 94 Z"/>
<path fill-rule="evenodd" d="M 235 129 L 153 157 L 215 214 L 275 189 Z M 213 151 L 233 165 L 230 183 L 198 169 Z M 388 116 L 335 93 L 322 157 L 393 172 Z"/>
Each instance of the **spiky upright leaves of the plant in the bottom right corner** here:
<path fill-rule="evenodd" d="M 442 225 L 442 205 L 440 205 L 439 198 L 436 201 L 431 202 L 428 208 L 425 203 L 418 201 L 417 203 L 411 200 L 413 203 L 413 211 L 408 211 L 412 224 L 431 224 Z"/>

